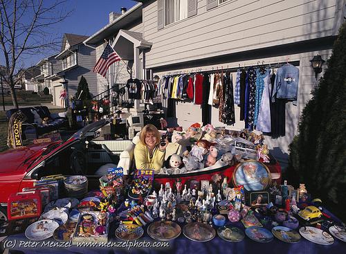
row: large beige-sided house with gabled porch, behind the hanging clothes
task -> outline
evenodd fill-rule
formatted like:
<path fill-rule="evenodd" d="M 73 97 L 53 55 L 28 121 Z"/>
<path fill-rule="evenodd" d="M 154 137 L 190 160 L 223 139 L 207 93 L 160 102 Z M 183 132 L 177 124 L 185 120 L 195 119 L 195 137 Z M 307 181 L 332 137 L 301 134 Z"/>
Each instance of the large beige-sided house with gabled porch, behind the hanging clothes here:
<path fill-rule="evenodd" d="M 142 72 L 159 77 L 225 69 L 235 73 L 239 66 L 275 66 L 279 62 L 293 62 L 298 66 L 298 105 L 292 102 L 286 104 L 286 135 L 265 137 L 273 154 L 286 161 L 289 143 L 298 131 L 300 112 L 318 82 L 310 60 L 315 55 L 327 60 L 331 55 L 338 28 L 343 22 L 345 1 L 138 2 L 143 5 L 138 3 L 131 8 L 131 13 L 126 15 L 125 12 L 126 16 L 118 17 L 114 23 L 84 42 L 97 45 L 102 44 L 103 39 L 115 38 L 112 40 L 113 48 L 133 63 L 137 73 L 135 77 L 142 77 Z M 138 10 L 142 10 L 142 15 L 138 14 Z M 126 24 L 126 20 L 135 18 L 138 18 L 135 27 L 122 25 Z M 96 51 L 99 57 L 102 47 L 98 46 Z M 164 105 L 167 103 L 164 102 Z M 178 102 L 175 111 L 178 124 L 183 127 L 201 122 L 199 105 Z M 229 129 L 244 128 L 236 105 L 235 114 L 237 122 Z M 218 120 L 218 109 L 212 108 L 211 118 L 212 125 L 224 125 Z"/>

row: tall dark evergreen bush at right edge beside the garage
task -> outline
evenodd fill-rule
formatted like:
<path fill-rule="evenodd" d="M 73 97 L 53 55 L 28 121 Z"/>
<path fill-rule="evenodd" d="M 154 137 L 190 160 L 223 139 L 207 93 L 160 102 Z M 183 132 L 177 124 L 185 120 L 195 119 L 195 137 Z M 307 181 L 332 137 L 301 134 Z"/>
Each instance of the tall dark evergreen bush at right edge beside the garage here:
<path fill-rule="evenodd" d="M 346 220 L 346 23 L 327 70 L 302 111 L 290 145 L 289 183 L 305 183 L 313 197 Z"/>

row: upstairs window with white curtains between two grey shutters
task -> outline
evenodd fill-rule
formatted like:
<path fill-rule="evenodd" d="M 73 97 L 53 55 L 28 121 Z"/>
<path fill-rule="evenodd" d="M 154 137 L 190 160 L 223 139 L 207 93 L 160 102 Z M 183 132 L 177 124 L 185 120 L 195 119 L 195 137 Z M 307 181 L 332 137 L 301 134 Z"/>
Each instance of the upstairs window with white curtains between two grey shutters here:
<path fill-rule="evenodd" d="M 165 26 L 188 17 L 188 0 L 165 0 Z"/>

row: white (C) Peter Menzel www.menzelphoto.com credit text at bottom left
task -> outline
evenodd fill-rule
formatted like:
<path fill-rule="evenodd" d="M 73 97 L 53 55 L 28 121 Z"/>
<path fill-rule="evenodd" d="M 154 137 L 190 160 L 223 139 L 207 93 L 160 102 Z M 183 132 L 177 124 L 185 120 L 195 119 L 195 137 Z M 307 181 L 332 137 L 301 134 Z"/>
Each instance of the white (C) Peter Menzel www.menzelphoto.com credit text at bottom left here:
<path fill-rule="evenodd" d="M 17 245 L 18 244 L 18 245 Z M 169 248 L 169 242 L 134 242 L 123 241 L 123 242 L 78 242 L 72 244 L 69 242 L 55 242 L 55 241 L 17 241 L 17 240 L 5 240 L 3 243 L 4 248 L 70 248 L 72 246 L 78 248 Z"/>

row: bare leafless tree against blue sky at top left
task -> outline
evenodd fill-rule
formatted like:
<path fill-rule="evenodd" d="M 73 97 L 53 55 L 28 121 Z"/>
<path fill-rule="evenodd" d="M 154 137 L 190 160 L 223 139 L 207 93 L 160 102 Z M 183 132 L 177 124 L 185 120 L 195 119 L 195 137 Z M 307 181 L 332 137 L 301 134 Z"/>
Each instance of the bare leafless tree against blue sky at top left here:
<path fill-rule="evenodd" d="M 24 60 L 57 49 L 61 38 L 54 35 L 53 28 L 72 12 L 64 10 L 66 1 L 0 0 L 0 44 L 5 59 L 0 75 L 10 87 L 16 108 L 15 84 L 25 73 Z"/>

